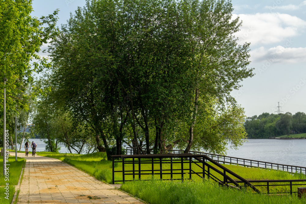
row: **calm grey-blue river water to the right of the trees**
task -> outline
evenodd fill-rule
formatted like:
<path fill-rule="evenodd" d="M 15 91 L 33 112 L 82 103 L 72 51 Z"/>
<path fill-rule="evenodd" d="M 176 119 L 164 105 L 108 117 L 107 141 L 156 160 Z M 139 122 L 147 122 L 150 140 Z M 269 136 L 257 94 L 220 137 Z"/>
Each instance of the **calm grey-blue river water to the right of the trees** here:
<path fill-rule="evenodd" d="M 306 139 L 248 139 L 227 156 L 306 167 Z"/>

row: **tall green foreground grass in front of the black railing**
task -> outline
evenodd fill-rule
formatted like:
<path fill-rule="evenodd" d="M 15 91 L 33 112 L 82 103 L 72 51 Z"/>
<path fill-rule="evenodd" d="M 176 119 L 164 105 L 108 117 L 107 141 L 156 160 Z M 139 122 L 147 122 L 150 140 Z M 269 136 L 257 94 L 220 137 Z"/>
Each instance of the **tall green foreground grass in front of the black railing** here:
<path fill-rule="evenodd" d="M 306 203 L 296 195 L 267 196 L 219 187 L 211 182 L 132 181 L 121 189 L 151 204 L 186 203 Z"/>

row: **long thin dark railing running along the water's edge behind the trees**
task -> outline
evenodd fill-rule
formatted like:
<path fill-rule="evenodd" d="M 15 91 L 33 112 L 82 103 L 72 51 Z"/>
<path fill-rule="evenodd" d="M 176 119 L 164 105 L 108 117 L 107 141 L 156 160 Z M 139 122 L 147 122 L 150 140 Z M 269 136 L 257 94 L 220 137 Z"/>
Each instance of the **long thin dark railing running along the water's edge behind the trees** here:
<path fill-rule="evenodd" d="M 152 149 L 150 149 L 153 152 Z M 146 153 L 146 151 L 144 151 Z M 183 150 L 162 150 L 161 153 L 173 153 L 173 154 L 181 154 L 184 153 Z M 210 154 L 205 152 L 197 152 L 197 151 L 189 151 L 191 154 L 205 154 L 206 156 L 210 157 L 211 159 L 217 161 L 219 164 L 237 164 L 241 166 L 247 167 L 258 167 L 262 169 L 275 169 L 275 170 L 282 170 L 291 173 L 300 172 L 306 175 L 306 167 L 302 166 L 294 166 L 294 165 L 285 165 L 285 164 L 278 164 L 266 161 L 257 161 L 252 159 L 244 159 L 244 158 L 237 158 L 237 157 L 230 157 L 225 155 L 219 154 Z M 133 148 L 127 147 L 126 154 L 136 154 L 136 150 Z"/>

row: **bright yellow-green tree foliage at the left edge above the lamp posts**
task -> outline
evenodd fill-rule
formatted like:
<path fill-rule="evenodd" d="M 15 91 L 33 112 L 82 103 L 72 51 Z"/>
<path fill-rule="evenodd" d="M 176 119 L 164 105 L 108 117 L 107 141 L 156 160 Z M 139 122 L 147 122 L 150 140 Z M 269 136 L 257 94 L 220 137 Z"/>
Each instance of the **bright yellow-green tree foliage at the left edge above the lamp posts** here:
<path fill-rule="evenodd" d="M 22 87 L 33 80 L 32 73 L 49 66 L 47 59 L 38 52 L 42 43 L 50 39 L 58 11 L 40 19 L 32 17 L 31 12 L 32 0 L 0 2 L 0 73 L 2 82 L 4 77 L 8 79 L 5 86 L 7 112 L 16 113 L 16 99 L 20 99 L 18 95 L 24 91 Z M 0 83 L 1 95 L 3 89 L 4 84 Z M 3 112 L 3 108 L 0 109 Z"/>

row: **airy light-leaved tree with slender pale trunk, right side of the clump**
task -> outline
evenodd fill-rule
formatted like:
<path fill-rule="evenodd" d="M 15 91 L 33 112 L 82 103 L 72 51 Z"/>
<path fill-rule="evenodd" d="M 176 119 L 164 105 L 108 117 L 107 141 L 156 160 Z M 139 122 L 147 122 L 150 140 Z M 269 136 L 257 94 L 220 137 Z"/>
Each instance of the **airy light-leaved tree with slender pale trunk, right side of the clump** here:
<path fill-rule="evenodd" d="M 236 106 L 230 92 L 241 87 L 239 82 L 244 78 L 253 76 L 253 69 L 247 68 L 250 44 L 237 44 L 234 33 L 242 22 L 239 17 L 232 19 L 233 7 L 230 2 L 195 0 L 181 1 L 179 5 L 186 22 L 187 65 L 193 77 L 192 120 L 185 149 L 185 153 L 188 153 L 193 143 L 199 98 L 207 102 L 209 98 L 218 98 L 217 107 L 221 111 L 226 103 Z"/>

